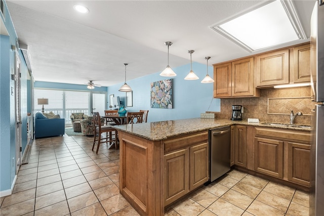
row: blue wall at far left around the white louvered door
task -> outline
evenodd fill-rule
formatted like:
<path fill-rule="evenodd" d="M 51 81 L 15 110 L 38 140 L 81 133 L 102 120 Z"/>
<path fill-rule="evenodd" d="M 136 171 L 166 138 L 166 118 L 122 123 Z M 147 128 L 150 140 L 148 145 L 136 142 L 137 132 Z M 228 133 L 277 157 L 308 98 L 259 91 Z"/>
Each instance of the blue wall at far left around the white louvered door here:
<path fill-rule="evenodd" d="M 27 67 L 20 50 L 13 50 L 18 40 L 15 28 L 13 26 L 6 2 L 4 2 L 4 14 L 6 19 L 0 16 L 9 36 L 1 35 L 0 37 L 0 192 L 1 196 L 9 195 L 13 189 L 16 178 L 16 112 L 15 112 L 15 94 L 11 94 L 11 89 L 15 92 L 15 81 L 11 79 L 12 71 L 15 71 L 15 54 L 17 52 L 20 59 L 21 72 L 21 136 L 22 150 L 27 145 Z"/>

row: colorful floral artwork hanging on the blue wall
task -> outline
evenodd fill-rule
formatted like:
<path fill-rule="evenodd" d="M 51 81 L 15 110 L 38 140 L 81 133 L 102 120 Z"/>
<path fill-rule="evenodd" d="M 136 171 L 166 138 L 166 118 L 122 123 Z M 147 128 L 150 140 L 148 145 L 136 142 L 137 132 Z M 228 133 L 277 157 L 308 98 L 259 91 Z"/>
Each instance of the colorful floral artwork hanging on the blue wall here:
<path fill-rule="evenodd" d="M 151 82 L 151 108 L 173 108 L 173 79 Z"/>

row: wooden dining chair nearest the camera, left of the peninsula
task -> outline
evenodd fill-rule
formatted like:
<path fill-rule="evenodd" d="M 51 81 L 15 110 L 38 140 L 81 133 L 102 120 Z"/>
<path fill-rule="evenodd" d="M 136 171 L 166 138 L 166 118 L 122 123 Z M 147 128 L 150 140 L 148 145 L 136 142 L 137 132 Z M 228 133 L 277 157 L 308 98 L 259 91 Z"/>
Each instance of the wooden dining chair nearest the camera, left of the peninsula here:
<path fill-rule="evenodd" d="M 100 143 L 107 143 L 115 144 L 115 148 L 117 149 L 117 131 L 116 129 L 112 128 L 111 125 L 101 125 L 101 117 L 99 112 L 93 112 L 93 123 L 94 123 L 94 137 L 93 137 L 93 146 L 92 151 L 95 147 L 97 142 L 97 150 L 96 153 L 98 154 Z M 114 132 L 114 139 L 112 138 L 112 132 Z M 106 137 L 101 137 L 101 134 L 106 133 Z M 108 137 L 109 133 L 109 137 Z"/>

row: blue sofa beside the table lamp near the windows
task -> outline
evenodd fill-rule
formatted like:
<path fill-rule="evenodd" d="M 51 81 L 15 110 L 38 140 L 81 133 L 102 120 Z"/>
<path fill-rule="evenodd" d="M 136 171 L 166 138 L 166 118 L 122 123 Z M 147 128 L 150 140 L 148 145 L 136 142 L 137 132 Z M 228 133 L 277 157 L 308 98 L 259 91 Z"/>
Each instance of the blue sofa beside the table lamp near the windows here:
<path fill-rule="evenodd" d="M 54 113 L 53 113 L 54 114 Z M 48 117 L 51 117 L 48 115 Z M 65 119 L 59 115 L 54 115 L 53 118 L 48 118 L 43 113 L 35 115 L 35 138 L 55 137 L 64 135 Z"/>

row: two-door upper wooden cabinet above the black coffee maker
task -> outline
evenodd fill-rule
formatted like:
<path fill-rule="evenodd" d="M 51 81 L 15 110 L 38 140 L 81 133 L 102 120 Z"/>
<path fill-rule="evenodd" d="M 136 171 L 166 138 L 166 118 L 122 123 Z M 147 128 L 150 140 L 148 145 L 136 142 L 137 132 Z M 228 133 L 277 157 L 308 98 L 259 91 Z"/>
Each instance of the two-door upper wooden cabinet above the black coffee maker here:
<path fill-rule="evenodd" d="M 254 86 L 254 57 L 214 65 L 214 98 L 260 97 Z"/>

